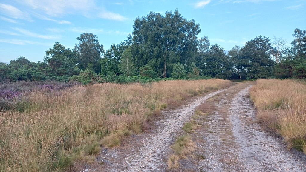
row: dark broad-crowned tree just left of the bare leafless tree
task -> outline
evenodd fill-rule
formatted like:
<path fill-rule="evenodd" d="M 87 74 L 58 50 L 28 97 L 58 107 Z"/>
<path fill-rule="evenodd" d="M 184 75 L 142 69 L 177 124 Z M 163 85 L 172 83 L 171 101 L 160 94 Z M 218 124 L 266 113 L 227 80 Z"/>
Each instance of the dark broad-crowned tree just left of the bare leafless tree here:
<path fill-rule="evenodd" d="M 271 76 L 274 61 L 271 44 L 267 37 L 256 37 L 239 50 L 233 58 L 240 79 L 267 78 Z"/>

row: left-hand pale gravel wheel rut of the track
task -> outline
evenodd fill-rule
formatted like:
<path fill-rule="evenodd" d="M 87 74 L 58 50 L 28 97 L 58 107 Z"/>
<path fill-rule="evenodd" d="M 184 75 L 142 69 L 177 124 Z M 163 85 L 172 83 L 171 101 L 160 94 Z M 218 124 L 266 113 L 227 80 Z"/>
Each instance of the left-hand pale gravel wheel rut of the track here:
<path fill-rule="evenodd" d="M 88 166 L 88 171 L 164 171 L 170 144 L 173 143 L 177 132 L 191 117 L 196 107 L 226 90 L 222 89 L 197 97 L 176 110 L 163 112 L 166 118 L 155 121 L 154 125 L 157 127 L 153 131 L 134 136 L 124 148 L 104 152 L 98 161 L 104 160 L 105 165 Z"/>

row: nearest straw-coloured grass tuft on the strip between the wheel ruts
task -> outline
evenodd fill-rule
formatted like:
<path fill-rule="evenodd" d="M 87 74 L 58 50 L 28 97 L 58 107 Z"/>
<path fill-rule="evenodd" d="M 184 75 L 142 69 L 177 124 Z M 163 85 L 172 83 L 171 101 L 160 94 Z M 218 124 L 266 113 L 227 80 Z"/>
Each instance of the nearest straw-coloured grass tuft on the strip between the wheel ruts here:
<path fill-rule="evenodd" d="M 174 151 L 174 154 L 170 155 L 168 158 L 168 169 L 178 168 L 179 159 L 187 158 L 192 151 L 196 148 L 196 143 L 191 140 L 190 135 L 179 136 L 174 144 L 171 145 L 171 148 Z"/>

